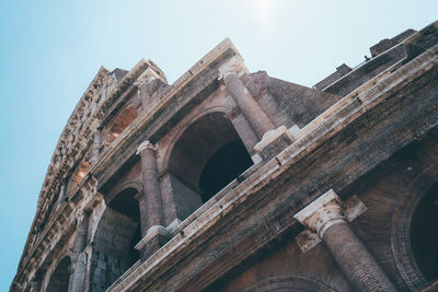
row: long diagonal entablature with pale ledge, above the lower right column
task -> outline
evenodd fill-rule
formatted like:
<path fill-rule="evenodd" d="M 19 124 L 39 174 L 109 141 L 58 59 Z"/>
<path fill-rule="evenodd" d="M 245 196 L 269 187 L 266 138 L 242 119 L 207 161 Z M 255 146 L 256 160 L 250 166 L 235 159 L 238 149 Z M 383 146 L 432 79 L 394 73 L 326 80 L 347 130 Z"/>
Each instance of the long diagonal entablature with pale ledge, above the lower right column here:
<path fill-rule="evenodd" d="M 275 159 L 188 217 L 165 246 L 108 291 L 153 290 L 164 282 L 170 290 L 201 290 L 273 240 L 254 231 L 293 227 L 297 221 L 285 219 L 285 212 L 295 214 L 331 188 L 343 194 L 397 150 L 436 132 L 437 52 L 438 45 L 333 105 Z M 243 241 L 244 250 L 237 248 Z"/>

